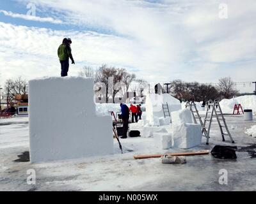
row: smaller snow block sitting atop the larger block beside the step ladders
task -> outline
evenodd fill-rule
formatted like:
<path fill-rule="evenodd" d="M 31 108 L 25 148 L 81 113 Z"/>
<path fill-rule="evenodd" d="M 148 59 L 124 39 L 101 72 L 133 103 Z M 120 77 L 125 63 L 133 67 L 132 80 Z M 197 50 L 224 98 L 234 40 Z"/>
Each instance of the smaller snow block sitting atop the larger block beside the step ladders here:
<path fill-rule="evenodd" d="M 193 116 L 190 110 L 182 109 L 171 113 L 172 124 L 179 125 L 182 123 L 194 123 Z"/>

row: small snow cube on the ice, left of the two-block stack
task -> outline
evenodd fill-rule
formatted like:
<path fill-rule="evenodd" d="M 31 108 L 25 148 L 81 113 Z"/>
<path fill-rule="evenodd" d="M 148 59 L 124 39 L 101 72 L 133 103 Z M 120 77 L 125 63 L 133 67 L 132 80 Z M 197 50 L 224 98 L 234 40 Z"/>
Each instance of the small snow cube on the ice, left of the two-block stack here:
<path fill-rule="evenodd" d="M 171 133 L 154 133 L 154 143 L 159 149 L 170 149 L 172 147 Z"/>

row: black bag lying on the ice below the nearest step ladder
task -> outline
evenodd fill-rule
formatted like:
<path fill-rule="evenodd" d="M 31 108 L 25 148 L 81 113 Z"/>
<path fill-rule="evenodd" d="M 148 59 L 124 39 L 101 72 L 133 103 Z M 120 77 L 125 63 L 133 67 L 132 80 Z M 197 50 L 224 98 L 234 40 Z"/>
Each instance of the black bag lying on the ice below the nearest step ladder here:
<path fill-rule="evenodd" d="M 211 150 L 212 156 L 218 159 L 236 159 L 236 146 L 221 146 L 216 145 Z"/>

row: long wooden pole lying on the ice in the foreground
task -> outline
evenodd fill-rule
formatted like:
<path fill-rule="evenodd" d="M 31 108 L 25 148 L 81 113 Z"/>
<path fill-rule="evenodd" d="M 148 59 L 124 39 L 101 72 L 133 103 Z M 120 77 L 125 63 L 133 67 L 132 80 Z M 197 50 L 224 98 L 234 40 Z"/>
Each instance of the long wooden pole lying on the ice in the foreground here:
<path fill-rule="evenodd" d="M 168 156 L 195 156 L 195 155 L 204 155 L 209 154 L 209 150 L 200 150 L 196 152 L 178 152 L 178 153 L 166 153 L 166 154 L 141 154 L 134 155 L 134 159 L 149 159 L 149 158 L 159 158 L 164 155 Z"/>

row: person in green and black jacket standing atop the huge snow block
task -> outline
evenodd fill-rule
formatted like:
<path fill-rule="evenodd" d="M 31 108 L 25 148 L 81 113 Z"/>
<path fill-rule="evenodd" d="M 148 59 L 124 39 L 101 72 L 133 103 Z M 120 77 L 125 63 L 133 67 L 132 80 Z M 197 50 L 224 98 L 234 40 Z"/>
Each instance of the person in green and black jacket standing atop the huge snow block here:
<path fill-rule="evenodd" d="M 58 48 L 58 57 L 61 64 L 61 77 L 66 77 L 68 75 L 69 58 L 71 59 L 72 64 L 75 64 L 71 53 L 71 43 L 72 40 L 70 38 L 64 38 L 62 44 Z"/>

